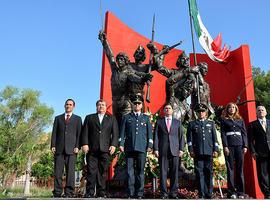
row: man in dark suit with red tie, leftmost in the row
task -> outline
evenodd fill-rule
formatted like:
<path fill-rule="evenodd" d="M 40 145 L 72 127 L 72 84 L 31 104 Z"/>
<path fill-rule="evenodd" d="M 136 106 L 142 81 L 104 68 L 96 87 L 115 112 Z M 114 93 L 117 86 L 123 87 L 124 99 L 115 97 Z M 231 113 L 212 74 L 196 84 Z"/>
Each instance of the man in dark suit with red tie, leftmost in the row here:
<path fill-rule="evenodd" d="M 65 113 L 55 117 L 51 139 L 51 151 L 54 154 L 54 197 L 62 195 L 62 175 L 66 169 L 65 197 L 73 197 L 75 186 L 76 154 L 79 152 L 82 119 L 73 114 L 75 101 L 65 102 Z"/>

